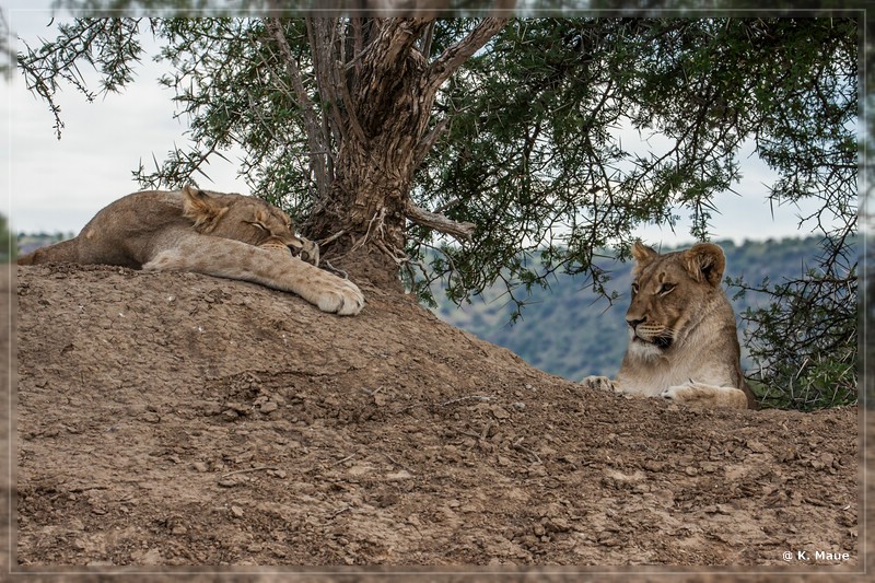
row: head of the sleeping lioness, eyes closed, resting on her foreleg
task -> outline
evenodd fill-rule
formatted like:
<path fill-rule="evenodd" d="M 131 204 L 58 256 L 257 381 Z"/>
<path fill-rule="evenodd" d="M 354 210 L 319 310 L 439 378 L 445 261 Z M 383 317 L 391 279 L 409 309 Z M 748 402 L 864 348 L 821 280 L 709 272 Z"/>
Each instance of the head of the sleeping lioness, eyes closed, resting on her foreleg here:
<path fill-rule="evenodd" d="M 183 188 L 183 215 L 202 234 L 233 238 L 258 247 L 289 249 L 313 265 L 319 264 L 316 243 L 294 234 L 292 220 L 277 207 L 255 197 L 211 195 Z"/>

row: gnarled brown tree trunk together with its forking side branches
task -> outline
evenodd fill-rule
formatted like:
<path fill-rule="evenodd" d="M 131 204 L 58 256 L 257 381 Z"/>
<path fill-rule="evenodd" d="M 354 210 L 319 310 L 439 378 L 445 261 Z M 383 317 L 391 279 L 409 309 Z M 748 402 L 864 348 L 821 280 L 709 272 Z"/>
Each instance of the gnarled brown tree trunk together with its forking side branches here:
<path fill-rule="evenodd" d="M 430 38 L 433 19 L 308 20 L 323 104 L 317 113 L 303 92 L 279 21 L 268 20 L 293 77 L 312 148 L 318 152 L 330 144 L 327 164 L 319 154 L 311 159 L 319 200 L 302 231 L 320 242 L 323 257 L 335 267 L 357 280 L 400 291 L 408 219 L 456 237 L 470 236 L 474 225 L 419 209 L 409 193 L 413 173 L 445 125 L 429 129 L 438 90 L 504 22 L 483 19 L 429 62 L 430 43 L 423 38 Z"/>

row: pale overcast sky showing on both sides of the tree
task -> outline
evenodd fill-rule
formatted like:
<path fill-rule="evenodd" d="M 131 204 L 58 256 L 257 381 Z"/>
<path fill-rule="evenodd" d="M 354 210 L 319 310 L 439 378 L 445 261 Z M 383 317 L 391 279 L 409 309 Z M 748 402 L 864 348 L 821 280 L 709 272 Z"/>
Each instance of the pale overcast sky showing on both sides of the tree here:
<path fill-rule="evenodd" d="M 49 10 L 23 8 L 48 3 L 5 2 L 15 48 L 23 48 L 22 40 L 38 46 L 39 37 L 57 35 L 58 21 L 49 25 Z M 26 90 L 18 71 L 11 80 L 0 81 L 8 92 L 0 116 L 8 125 L 8 139 L 0 143 L 9 160 L 0 168 L 0 180 L 9 185 L 9 200 L 2 211 L 11 217 L 14 230 L 78 233 L 97 210 L 138 190 L 131 173 L 140 161 L 150 167 L 153 155 L 161 161 L 174 143 L 185 143 L 185 119 L 174 119 L 172 92 L 156 82 L 162 67 L 166 66 L 144 59 L 137 69 L 137 82 L 121 94 L 109 94 L 92 104 L 72 88 L 65 88 L 58 100 L 66 124 L 61 140 L 55 136 L 48 106 Z M 625 147 L 629 139 L 634 137 L 625 137 Z M 249 194 L 236 176 L 236 158 L 229 158 L 231 163 L 217 159 L 208 170 L 213 182 L 199 177 L 200 186 Z M 756 158 L 743 159 L 742 164 L 744 177 L 734 188 L 742 196 L 727 193 L 718 197 L 715 205 L 722 214 L 713 218 L 712 237 L 740 242 L 798 234 L 798 209 L 775 207 L 772 218 L 765 186 L 771 178 L 765 164 Z M 690 242 L 687 211 L 678 214 L 685 221 L 677 226 L 677 234 L 667 228 L 650 228 L 641 232 L 641 237 L 663 246 Z"/>

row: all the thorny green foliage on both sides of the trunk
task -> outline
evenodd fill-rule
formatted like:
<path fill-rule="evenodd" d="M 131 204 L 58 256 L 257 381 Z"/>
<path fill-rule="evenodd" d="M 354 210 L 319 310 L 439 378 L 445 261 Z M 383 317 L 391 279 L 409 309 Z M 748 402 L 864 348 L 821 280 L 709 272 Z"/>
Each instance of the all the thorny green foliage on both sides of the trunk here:
<path fill-rule="evenodd" d="M 422 27 L 415 60 L 425 70 L 476 23 L 442 19 Z M 101 74 L 102 91 L 129 83 L 141 54 L 137 35 L 148 28 L 163 45 L 160 58 L 171 72 L 161 82 L 174 90 L 179 115 L 190 121 L 190 143 L 164 162 L 155 160 L 153 172 L 141 166 L 137 175 L 144 186 L 190 182 L 210 159 L 238 147 L 241 175 L 259 196 L 299 218 L 330 207 L 316 199 L 312 164 L 315 159 L 330 164 L 342 140 L 335 136 L 329 151 L 313 151 L 289 86 L 289 61 L 276 54 L 262 20 L 145 24 L 80 19 L 60 26 L 55 42 L 19 56 L 28 88 L 48 102 L 58 132 L 59 83 L 93 98 L 79 66 Z M 342 57 L 354 68 L 361 55 L 353 55 L 353 39 L 373 38 L 382 24 L 369 19 L 337 24 L 330 42 L 343 47 Z M 303 91 L 328 126 L 331 112 L 346 102 L 327 103 L 316 89 L 326 85 L 315 78 L 314 50 L 320 46 L 314 21 L 288 20 L 282 26 Z M 407 257 L 393 257 L 388 265 L 399 263 L 406 283 L 425 302 L 436 281 L 445 282 L 454 302 L 492 294 L 498 284 L 510 319 L 539 305 L 532 298 L 564 275 L 610 296 L 610 275 L 598 249 L 628 257 L 640 225 L 674 226 L 679 212 L 691 217 L 692 235 L 708 238 L 718 211 L 714 196 L 737 184 L 742 144 L 754 143 L 778 175 L 768 185 L 773 205 L 817 202 L 813 214 L 801 218 L 801 228 L 816 231 L 824 247 L 792 282 L 743 284 L 770 293 L 775 306 L 748 314 L 763 327 L 757 337 L 765 339 L 751 351 L 777 375 L 763 378 L 767 384 L 783 385 L 792 373 L 796 386 L 800 380 L 820 386 L 825 374 L 843 371 L 856 358 L 833 331 L 847 340 L 856 327 L 851 304 L 859 27 L 859 19 L 836 15 L 510 21 L 441 86 L 431 127 L 444 132 L 433 145 L 424 142 L 428 156 L 410 191 L 397 194 L 405 203 L 475 223 L 474 236 L 454 243 L 411 221 Z M 345 82 L 330 85 L 349 89 Z M 630 129 L 638 143 L 629 142 Z M 810 330 L 806 340 L 782 345 L 800 327 Z M 793 346 L 808 351 L 779 372 Z M 833 384 L 849 387 L 850 381 L 842 375 Z"/>

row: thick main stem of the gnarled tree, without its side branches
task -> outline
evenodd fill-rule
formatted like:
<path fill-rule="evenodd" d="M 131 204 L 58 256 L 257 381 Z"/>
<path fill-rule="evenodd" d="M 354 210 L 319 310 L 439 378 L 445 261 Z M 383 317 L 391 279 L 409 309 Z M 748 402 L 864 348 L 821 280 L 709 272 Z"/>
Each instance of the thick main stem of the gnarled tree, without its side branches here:
<path fill-rule="evenodd" d="M 368 53 L 348 75 L 351 108 L 340 112 L 346 128 L 340 128 L 328 205 L 306 226 L 323 241 L 345 232 L 334 248 L 326 249 L 328 260 L 353 252 L 345 269 L 360 277 L 366 271 L 369 279 L 378 280 L 372 283 L 400 290 L 405 207 L 418 165 L 413 152 L 434 98 L 421 91 L 425 59 L 412 45 L 429 21 L 371 24 L 376 32 Z M 363 260 L 370 265 L 361 265 Z"/>

